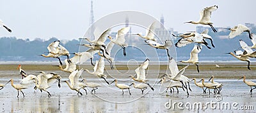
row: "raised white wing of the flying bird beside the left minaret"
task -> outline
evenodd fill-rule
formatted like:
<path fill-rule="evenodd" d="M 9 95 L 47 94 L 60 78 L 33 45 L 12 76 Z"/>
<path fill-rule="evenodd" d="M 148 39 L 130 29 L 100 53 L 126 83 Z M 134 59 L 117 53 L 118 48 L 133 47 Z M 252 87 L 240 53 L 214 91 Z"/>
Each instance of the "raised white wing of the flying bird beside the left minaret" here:
<path fill-rule="evenodd" d="M 131 27 L 124 27 L 124 28 L 118 30 L 118 32 L 116 34 L 115 42 L 123 44 L 125 42 L 125 34 L 127 34 L 127 32 L 129 32 L 130 29 L 131 29 Z"/>

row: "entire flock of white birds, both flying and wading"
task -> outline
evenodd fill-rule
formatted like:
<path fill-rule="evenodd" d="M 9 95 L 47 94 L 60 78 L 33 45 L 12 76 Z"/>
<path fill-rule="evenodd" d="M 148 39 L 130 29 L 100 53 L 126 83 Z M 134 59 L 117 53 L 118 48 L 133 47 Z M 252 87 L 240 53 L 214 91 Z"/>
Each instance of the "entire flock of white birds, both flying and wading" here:
<path fill-rule="evenodd" d="M 218 6 L 210 6 L 207 8 L 204 8 L 202 11 L 200 11 L 200 20 L 197 22 L 191 21 L 191 22 L 185 22 L 185 23 L 193 23 L 193 24 L 202 24 L 202 25 L 209 25 L 213 32 L 217 32 L 216 29 L 213 27 L 213 23 L 210 22 L 210 17 L 212 11 L 215 11 L 218 9 Z M 9 32 L 12 32 L 2 21 L 0 21 L 0 24 L 2 27 L 7 29 Z M 20 80 L 20 84 L 14 84 L 13 79 L 10 79 L 9 82 L 12 83 L 13 88 L 15 88 L 18 91 L 17 97 L 19 97 L 19 91 L 24 96 L 24 93 L 22 92 L 23 89 L 28 88 L 31 86 L 31 84 L 34 84 L 34 89 L 38 89 L 40 91 L 45 91 L 48 93 L 48 96 L 51 96 L 51 93 L 47 91 L 48 88 L 50 88 L 51 84 L 58 81 L 58 86 L 61 87 L 60 83 L 67 83 L 70 90 L 77 91 L 77 95 L 83 95 L 81 93 L 81 89 L 86 91 L 87 88 L 92 88 L 92 93 L 95 93 L 95 90 L 98 89 L 101 85 L 99 83 L 88 83 L 86 81 L 86 78 L 81 78 L 81 75 L 83 74 L 83 71 L 85 70 L 88 74 L 92 74 L 94 76 L 97 76 L 99 78 L 104 79 L 107 84 L 112 84 L 115 82 L 115 86 L 122 90 L 122 95 L 124 95 L 124 90 L 129 91 L 129 95 L 131 95 L 130 88 L 133 85 L 134 88 L 138 88 L 141 90 L 141 93 L 143 94 L 143 91 L 146 90 L 148 87 L 150 87 L 151 90 L 154 91 L 154 88 L 152 85 L 150 85 L 146 79 L 146 72 L 145 70 L 148 69 L 149 59 L 147 58 L 145 62 L 141 63 L 140 67 L 136 68 L 136 77 L 130 76 L 134 82 L 132 82 L 130 85 L 127 84 L 120 84 L 118 83 L 118 79 L 114 79 L 111 83 L 109 83 L 106 80 L 107 75 L 104 74 L 105 70 L 105 64 L 104 60 L 107 60 L 110 64 L 111 69 L 114 69 L 113 67 L 113 61 L 114 58 L 111 57 L 111 50 L 113 46 L 116 44 L 117 46 L 120 46 L 124 51 L 124 56 L 126 56 L 125 48 L 128 46 L 127 43 L 125 43 L 125 35 L 129 32 L 131 27 L 124 27 L 120 30 L 118 30 L 116 37 L 113 39 L 113 37 L 108 36 L 109 32 L 111 31 L 111 28 L 105 30 L 99 37 L 95 38 L 95 40 L 90 40 L 87 37 L 83 37 L 80 39 L 84 39 L 88 41 L 89 44 L 81 44 L 81 46 L 84 46 L 88 48 L 88 50 L 79 52 L 79 53 L 70 53 L 64 46 L 61 46 L 60 41 L 54 41 L 49 46 L 47 46 L 47 50 L 49 50 L 48 55 L 42 54 L 41 56 L 44 57 L 51 57 L 51 58 L 57 58 L 60 62 L 60 65 L 56 65 L 60 67 L 61 70 L 64 72 L 70 73 L 70 76 L 68 76 L 68 80 L 61 81 L 61 76 L 54 73 L 54 72 L 38 72 L 39 74 L 37 76 L 33 74 L 26 74 L 26 72 L 21 69 L 21 65 L 19 65 L 18 69 L 20 70 L 20 74 L 22 76 L 22 79 Z M 164 44 L 157 43 L 157 39 L 154 37 L 154 30 L 156 29 L 156 22 L 152 22 L 150 24 L 150 27 L 148 27 L 146 36 L 142 36 L 141 34 L 133 34 L 138 35 L 139 37 L 145 39 L 145 43 L 147 43 L 152 48 L 162 49 L 166 50 L 166 54 L 169 57 L 169 63 L 168 67 L 170 69 L 170 74 L 166 73 L 163 76 L 161 76 L 161 85 L 164 85 L 166 89 L 164 90 L 167 94 L 167 91 L 170 89 L 170 93 L 174 93 L 174 88 L 177 89 L 177 93 L 179 93 L 179 88 L 182 88 L 182 90 L 187 92 L 187 95 L 189 95 L 189 91 L 191 91 L 191 88 L 189 86 L 189 83 L 191 81 L 195 82 L 195 85 L 199 88 L 203 89 L 203 92 L 206 93 L 206 89 L 209 90 L 209 95 L 211 93 L 210 89 L 213 90 L 214 93 L 220 93 L 221 88 L 223 86 L 222 83 L 214 82 L 214 76 L 211 76 L 211 82 L 207 83 L 205 82 L 205 79 L 201 79 L 198 83 L 196 83 L 196 79 L 189 79 L 188 77 L 184 76 L 183 73 L 188 68 L 189 63 L 193 63 L 196 65 L 196 69 L 199 72 L 198 67 L 198 53 L 202 50 L 202 45 L 206 46 L 208 49 L 211 49 L 206 39 L 209 39 L 211 41 L 211 46 L 214 48 L 213 39 L 211 36 L 208 35 L 208 29 L 206 29 L 202 33 L 198 32 L 185 32 L 184 34 L 175 35 L 172 34 L 174 37 L 179 37 L 179 41 L 175 43 L 175 46 L 177 48 L 181 48 L 182 46 L 186 46 L 191 43 L 195 43 L 195 46 L 193 47 L 193 50 L 190 53 L 189 60 L 181 61 L 182 63 L 188 63 L 185 67 L 182 69 L 178 69 L 176 61 L 170 56 L 169 54 L 169 48 L 173 45 L 172 40 L 167 39 Z M 256 49 L 256 39 L 255 35 L 252 34 L 251 30 L 248 29 L 248 27 L 244 25 L 237 25 L 237 27 L 234 27 L 231 30 L 228 37 L 233 38 L 237 35 L 248 32 L 249 37 L 253 43 L 253 46 L 248 46 L 248 44 L 244 43 L 243 40 L 240 40 L 239 43 L 241 44 L 242 50 L 235 51 L 236 55 L 232 52 L 228 53 L 230 55 L 233 55 L 238 60 L 248 62 L 248 69 L 250 69 L 250 60 L 249 58 L 256 58 L 256 53 L 252 49 Z M 108 38 L 107 38 L 108 37 Z M 106 39 L 109 39 L 110 42 L 108 44 L 105 44 Z M 69 58 L 70 54 L 74 54 L 72 58 Z M 99 60 L 96 61 L 96 63 L 93 63 L 93 55 L 98 54 L 100 56 Z M 65 67 L 63 67 L 63 63 L 61 62 L 60 56 L 67 56 L 67 59 L 65 59 Z M 88 69 L 77 69 L 77 64 L 83 64 L 84 62 L 90 60 L 91 64 L 93 65 L 93 71 L 90 71 Z M 79 79 L 82 79 L 82 81 L 79 81 Z M 253 83 L 252 81 L 245 81 L 245 76 L 241 77 L 243 79 L 243 82 L 246 83 L 248 86 L 250 86 L 251 94 L 252 90 L 256 88 L 256 83 Z M 6 84 L 8 84 L 6 83 Z M 3 89 L 6 84 L 0 84 L 0 88 Z M 254 88 L 252 88 L 254 87 Z M 1 90 L 0 89 L 0 90 Z M 87 91 L 86 91 L 87 95 Z"/>

